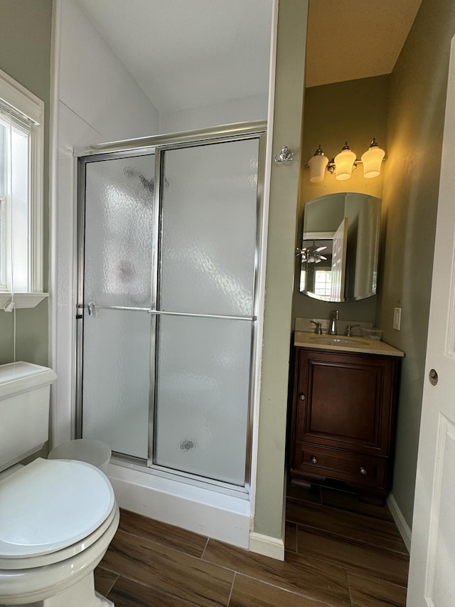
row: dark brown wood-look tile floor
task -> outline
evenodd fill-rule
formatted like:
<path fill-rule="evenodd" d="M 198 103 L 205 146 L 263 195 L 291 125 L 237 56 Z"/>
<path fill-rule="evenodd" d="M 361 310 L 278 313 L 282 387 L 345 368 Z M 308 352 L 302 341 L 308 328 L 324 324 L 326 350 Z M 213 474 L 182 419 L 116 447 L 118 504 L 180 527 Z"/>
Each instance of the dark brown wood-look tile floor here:
<path fill-rule="evenodd" d="M 387 506 L 327 487 L 287 495 L 286 559 L 122 510 L 95 570 L 116 607 L 404 607 L 409 555 Z"/>

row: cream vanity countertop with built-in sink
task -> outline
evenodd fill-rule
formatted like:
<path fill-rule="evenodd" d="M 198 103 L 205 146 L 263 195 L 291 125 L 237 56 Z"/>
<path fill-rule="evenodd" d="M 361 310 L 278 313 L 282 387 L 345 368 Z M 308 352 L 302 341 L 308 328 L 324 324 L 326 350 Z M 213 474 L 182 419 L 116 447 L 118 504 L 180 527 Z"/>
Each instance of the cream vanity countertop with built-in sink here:
<path fill-rule="evenodd" d="M 383 356 L 404 357 L 405 353 L 377 339 L 345 337 L 344 335 L 317 335 L 305 331 L 294 333 L 294 346 L 333 350 L 333 352 L 360 352 L 360 354 L 382 354 Z"/>

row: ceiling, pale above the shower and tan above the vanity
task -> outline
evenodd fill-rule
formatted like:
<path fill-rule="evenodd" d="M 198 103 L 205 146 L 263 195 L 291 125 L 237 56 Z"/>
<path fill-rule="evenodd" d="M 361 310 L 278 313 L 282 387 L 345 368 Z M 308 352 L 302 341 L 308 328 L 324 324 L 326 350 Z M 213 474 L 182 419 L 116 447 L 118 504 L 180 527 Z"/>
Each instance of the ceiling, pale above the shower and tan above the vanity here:
<path fill-rule="evenodd" d="M 77 2 L 160 112 L 267 94 L 272 0 Z M 421 2 L 310 0 L 306 86 L 390 73 Z"/>

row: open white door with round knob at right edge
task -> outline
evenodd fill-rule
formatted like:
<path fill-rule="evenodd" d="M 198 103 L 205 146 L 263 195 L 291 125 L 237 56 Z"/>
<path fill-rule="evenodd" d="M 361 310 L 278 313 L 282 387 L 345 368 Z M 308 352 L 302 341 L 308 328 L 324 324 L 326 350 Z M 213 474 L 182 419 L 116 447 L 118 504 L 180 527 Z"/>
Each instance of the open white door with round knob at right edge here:
<path fill-rule="evenodd" d="M 441 181 L 412 518 L 408 607 L 455 605 L 455 37 Z M 424 327 L 415 327 L 422 330 Z"/>

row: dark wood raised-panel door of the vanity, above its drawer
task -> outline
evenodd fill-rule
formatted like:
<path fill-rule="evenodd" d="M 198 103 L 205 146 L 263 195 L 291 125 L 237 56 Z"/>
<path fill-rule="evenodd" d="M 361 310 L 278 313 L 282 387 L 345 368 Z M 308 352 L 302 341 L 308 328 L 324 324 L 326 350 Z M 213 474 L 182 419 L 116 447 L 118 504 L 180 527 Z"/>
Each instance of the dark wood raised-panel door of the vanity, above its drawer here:
<path fill-rule="evenodd" d="M 296 440 L 359 453 L 388 453 L 390 359 L 301 350 L 298 371 Z"/>

